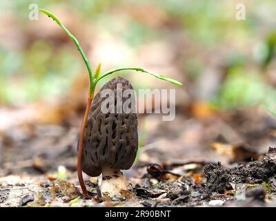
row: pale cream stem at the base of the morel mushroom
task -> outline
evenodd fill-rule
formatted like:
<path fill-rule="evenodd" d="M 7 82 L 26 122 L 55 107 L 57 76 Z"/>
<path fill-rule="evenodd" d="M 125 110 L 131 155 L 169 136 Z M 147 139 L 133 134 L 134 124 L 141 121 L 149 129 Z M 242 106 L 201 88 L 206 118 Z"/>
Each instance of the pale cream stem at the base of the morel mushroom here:
<path fill-rule="evenodd" d="M 110 197 L 121 196 L 122 190 L 129 190 L 130 183 L 119 169 L 112 169 L 109 166 L 102 168 L 103 179 L 101 181 L 101 194 Z"/>

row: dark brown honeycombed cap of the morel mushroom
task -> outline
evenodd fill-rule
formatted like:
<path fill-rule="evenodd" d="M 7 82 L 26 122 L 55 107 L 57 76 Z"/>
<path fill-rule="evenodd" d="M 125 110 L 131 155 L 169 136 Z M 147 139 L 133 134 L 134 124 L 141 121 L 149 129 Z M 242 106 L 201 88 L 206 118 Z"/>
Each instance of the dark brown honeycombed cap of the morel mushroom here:
<path fill-rule="evenodd" d="M 101 104 L 106 97 L 101 91 L 111 89 L 115 93 L 117 110 L 117 84 L 121 91 L 133 89 L 130 82 L 122 77 L 108 81 L 95 95 L 90 106 L 88 121 L 83 137 L 81 168 L 92 177 L 101 174 L 103 166 L 112 169 L 130 169 L 137 154 L 138 133 L 136 113 L 103 113 Z M 128 97 L 122 97 L 122 102 Z M 135 97 L 134 97 L 135 99 Z"/>

